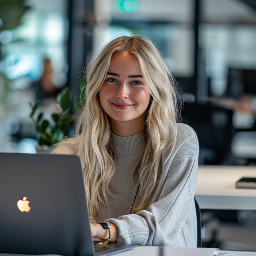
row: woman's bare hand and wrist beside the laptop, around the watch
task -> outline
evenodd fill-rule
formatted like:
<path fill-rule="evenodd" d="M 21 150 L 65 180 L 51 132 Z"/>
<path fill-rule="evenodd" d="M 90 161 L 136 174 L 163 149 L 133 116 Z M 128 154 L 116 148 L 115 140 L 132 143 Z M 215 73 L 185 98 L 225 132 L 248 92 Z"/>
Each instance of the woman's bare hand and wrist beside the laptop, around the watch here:
<path fill-rule="evenodd" d="M 109 223 L 111 229 L 110 242 L 116 242 L 118 236 L 118 229 L 113 223 Z M 93 241 L 101 241 L 109 238 L 109 230 L 104 229 L 101 224 L 90 223 L 91 236 Z"/>

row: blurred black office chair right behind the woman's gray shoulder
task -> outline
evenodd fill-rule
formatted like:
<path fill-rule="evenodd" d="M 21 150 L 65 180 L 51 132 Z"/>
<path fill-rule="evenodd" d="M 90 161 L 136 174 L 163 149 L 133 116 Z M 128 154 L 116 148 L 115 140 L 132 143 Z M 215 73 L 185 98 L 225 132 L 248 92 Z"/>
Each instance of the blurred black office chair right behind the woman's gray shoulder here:
<path fill-rule="evenodd" d="M 184 105 L 181 117 L 197 134 L 200 165 L 228 164 L 233 134 L 233 111 L 213 104 Z"/>

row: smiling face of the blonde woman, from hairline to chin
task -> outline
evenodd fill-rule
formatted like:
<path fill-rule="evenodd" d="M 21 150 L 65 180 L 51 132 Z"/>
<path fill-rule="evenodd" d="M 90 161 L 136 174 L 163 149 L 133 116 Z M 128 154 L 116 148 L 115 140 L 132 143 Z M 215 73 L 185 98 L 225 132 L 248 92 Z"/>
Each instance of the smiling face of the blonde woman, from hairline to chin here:
<path fill-rule="evenodd" d="M 150 102 L 139 61 L 130 53 L 114 53 L 105 81 L 99 90 L 103 110 L 111 122 L 142 119 Z"/>

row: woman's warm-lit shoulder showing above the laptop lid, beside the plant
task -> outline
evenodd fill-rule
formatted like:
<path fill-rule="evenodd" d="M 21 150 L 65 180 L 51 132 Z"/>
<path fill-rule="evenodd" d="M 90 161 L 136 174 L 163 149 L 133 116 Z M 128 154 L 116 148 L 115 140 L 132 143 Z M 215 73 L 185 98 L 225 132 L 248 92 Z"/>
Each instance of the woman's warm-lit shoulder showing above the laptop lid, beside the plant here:
<path fill-rule="evenodd" d="M 80 136 L 77 136 L 75 138 L 64 139 L 53 150 L 52 154 L 78 155 L 79 143 L 80 143 Z"/>

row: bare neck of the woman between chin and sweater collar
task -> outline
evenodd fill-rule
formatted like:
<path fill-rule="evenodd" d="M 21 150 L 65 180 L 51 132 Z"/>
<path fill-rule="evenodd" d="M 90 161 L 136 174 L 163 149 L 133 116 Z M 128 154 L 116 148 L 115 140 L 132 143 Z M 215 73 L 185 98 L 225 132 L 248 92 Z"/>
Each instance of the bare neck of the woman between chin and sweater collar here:
<path fill-rule="evenodd" d="M 130 121 L 116 121 L 110 117 L 113 133 L 122 137 L 128 137 L 143 132 L 144 122 L 144 115 Z"/>

